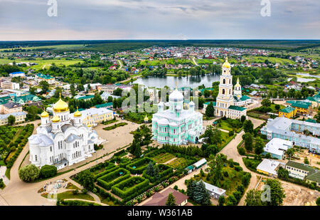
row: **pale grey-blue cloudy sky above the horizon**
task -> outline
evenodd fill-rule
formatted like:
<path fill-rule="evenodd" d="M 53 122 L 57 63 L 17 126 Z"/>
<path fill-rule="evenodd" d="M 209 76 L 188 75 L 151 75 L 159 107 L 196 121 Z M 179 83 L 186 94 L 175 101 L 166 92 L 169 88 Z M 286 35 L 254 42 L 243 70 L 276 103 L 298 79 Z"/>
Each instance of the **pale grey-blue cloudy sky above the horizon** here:
<path fill-rule="evenodd" d="M 52 0 L 50 0 L 52 1 Z M 0 0 L 0 41 L 319 39 L 319 0 Z M 265 0 L 264 0 L 265 1 Z"/>

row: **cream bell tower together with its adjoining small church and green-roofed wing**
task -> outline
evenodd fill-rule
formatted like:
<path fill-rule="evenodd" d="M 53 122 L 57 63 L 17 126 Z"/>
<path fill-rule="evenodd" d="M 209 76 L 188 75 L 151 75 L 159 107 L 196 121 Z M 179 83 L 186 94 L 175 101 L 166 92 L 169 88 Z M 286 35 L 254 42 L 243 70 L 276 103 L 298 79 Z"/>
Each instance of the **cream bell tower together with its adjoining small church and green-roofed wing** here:
<path fill-rule="evenodd" d="M 228 63 L 228 58 L 225 58 L 225 63 L 222 66 L 222 74 L 220 75 L 219 93 L 216 98 L 215 115 L 221 117 L 229 117 L 232 119 L 240 118 L 242 115 L 247 115 L 247 109 L 241 105 L 251 103 L 251 99 L 241 101 L 242 88 L 239 83 L 235 85 L 233 91 L 233 75 L 231 75 L 231 66 Z M 242 98 L 244 99 L 244 98 Z"/>

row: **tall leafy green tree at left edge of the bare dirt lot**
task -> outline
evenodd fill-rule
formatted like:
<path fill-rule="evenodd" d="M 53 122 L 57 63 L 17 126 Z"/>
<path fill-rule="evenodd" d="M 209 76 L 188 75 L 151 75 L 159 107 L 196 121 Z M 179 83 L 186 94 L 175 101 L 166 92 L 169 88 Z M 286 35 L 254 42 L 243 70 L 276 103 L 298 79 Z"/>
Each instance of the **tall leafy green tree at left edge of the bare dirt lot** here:
<path fill-rule="evenodd" d="M 283 199 L 286 197 L 281 182 L 277 179 L 267 179 L 267 185 L 270 187 L 270 201 L 267 201 L 269 206 L 282 206 Z"/>

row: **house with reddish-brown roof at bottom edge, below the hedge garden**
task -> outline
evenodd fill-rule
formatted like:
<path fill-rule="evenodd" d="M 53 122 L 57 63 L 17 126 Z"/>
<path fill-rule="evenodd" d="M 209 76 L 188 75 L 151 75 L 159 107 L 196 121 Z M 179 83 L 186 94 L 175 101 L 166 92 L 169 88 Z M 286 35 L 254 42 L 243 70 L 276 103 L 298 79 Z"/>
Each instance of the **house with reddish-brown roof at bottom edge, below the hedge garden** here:
<path fill-rule="evenodd" d="M 143 204 L 143 206 L 165 206 L 166 200 L 171 193 L 174 196 L 174 199 L 176 199 L 177 206 L 185 206 L 188 203 L 188 196 L 174 189 L 168 188 L 164 190 L 164 192 L 156 192 L 149 201 Z"/>

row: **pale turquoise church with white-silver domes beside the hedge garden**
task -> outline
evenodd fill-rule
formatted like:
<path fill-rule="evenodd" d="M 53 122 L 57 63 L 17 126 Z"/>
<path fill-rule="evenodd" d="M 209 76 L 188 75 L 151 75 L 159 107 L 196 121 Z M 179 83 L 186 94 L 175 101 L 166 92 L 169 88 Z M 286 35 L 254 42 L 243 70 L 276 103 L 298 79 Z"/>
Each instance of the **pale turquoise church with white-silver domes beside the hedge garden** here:
<path fill-rule="evenodd" d="M 177 89 L 169 95 L 169 109 L 164 103 L 158 105 L 158 112 L 152 116 L 153 139 L 160 144 L 182 145 L 198 142 L 203 133 L 203 115 L 195 111 L 195 103 L 183 109 L 183 95 Z"/>

